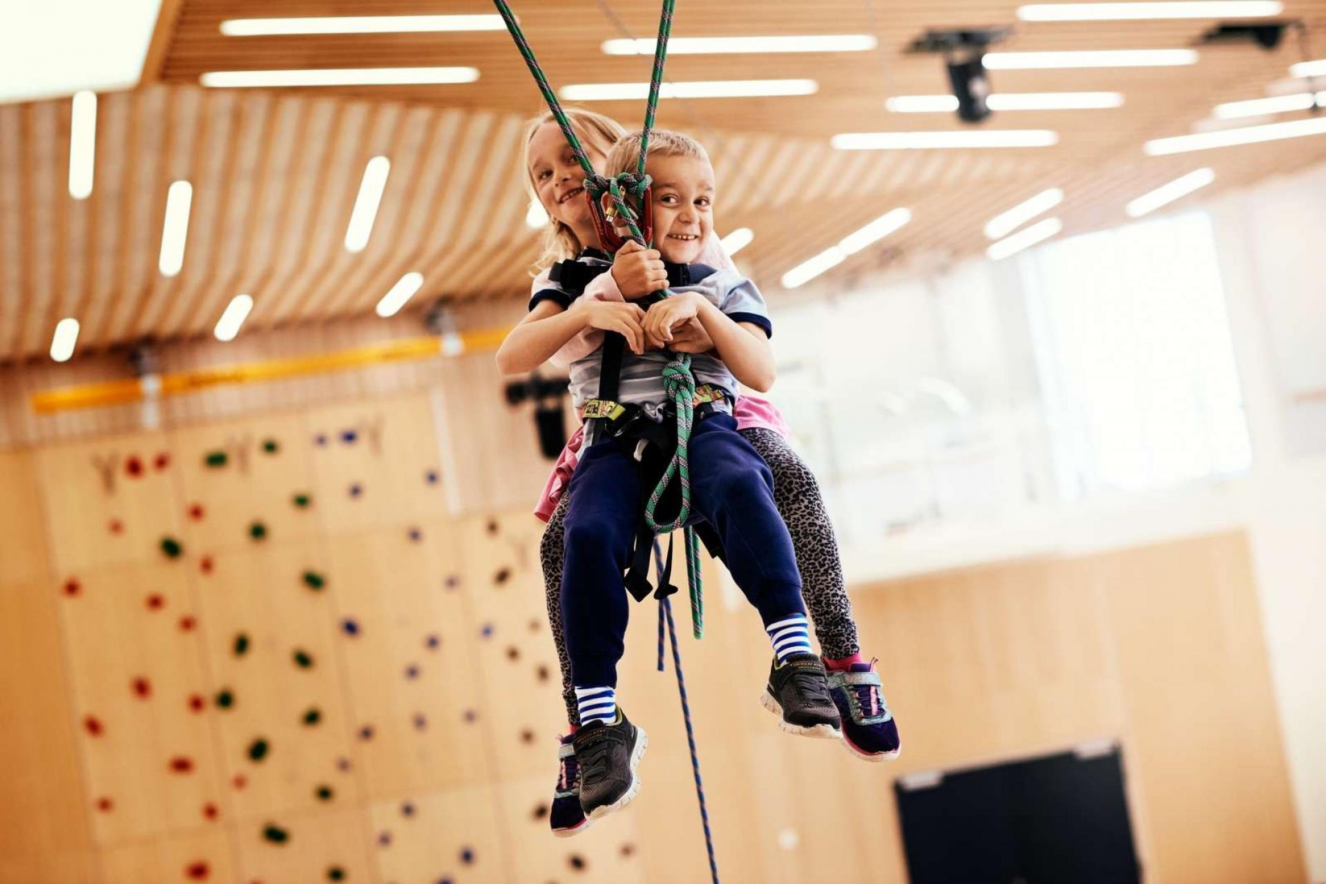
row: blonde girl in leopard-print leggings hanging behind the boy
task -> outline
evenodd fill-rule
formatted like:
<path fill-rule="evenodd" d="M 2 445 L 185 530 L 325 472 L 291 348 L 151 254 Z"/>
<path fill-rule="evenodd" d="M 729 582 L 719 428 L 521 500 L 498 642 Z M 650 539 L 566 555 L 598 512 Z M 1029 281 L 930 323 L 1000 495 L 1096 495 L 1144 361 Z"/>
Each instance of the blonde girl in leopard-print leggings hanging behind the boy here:
<path fill-rule="evenodd" d="M 570 109 L 581 143 L 595 168 L 613 143 L 625 135 L 614 121 L 590 111 Z M 558 260 L 574 258 L 585 245 L 597 244 L 591 208 L 583 196 L 583 172 L 550 114 L 532 119 L 524 133 L 526 186 L 549 215 L 540 265 L 548 268 Z M 599 260 L 606 258 L 599 253 Z M 593 260 L 593 257 L 587 257 Z M 704 241 L 699 261 L 711 266 L 731 266 L 731 261 L 712 237 Z M 627 244 L 611 270 L 590 281 L 585 294 L 572 304 L 583 329 L 556 354 L 554 360 L 569 363 L 595 349 L 602 330 L 626 333 L 633 350 L 643 342 L 635 335 L 643 314 L 631 300 L 652 293 L 667 284 L 668 268 L 654 249 Z M 534 281 L 537 296 L 546 290 L 548 272 Z M 635 335 L 633 338 L 633 335 Z M 684 353 L 703 353 L 712 341 L 699 323 L 679 329 L 670 347 Z M 501 364 L 501 354 L 499 363 Z M 869 761 L 883 761 L 898 754 L 896 725 L 884 704 L 879 677 L 873 663 L 859 653 L 851 606 L 843 588 L 842 570 L 833 526 L 825 512 L 814 476 L 785 440 L 786 425 L 777 410 L 757 396 L 741 395 L 733 408 L 737 431 L 769 465 L 774 478 L 774 502 L 792 535 L 806 607 L 814 622 L 815 635 L 829 671 L 829 687 L 838 706 L 846 747 Z M 560 587 L 564 566 L 564 525 L 568 509 L 565 484 L 578 457 L 581 432 L 566 447 L 553 470 L 537 513 L 548 521 L 541 545 L 544 577 L 548 591 L 548 615 L 562 667 L 564 698 L 573 732 L 579 724 L 577 698 L 570 679 L 561 628 Z M 561 777 L 553 803 L 550 823 L 558 835 L 570 835 L 586 824 L 578 801 L 578 766 L 570 737 L 560 750 Z"/>

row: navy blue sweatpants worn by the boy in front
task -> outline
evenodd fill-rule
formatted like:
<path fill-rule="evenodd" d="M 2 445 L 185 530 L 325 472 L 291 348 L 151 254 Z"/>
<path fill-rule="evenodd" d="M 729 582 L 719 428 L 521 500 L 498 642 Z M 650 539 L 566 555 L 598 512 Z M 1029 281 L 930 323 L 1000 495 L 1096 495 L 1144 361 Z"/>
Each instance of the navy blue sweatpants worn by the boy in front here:
<path fill-rule="evenodd" d="M 642 480 L 633 447 L 606 439 L 581 452 L 566 493 L 562 624 L 577 685 L 617 685 L 629 596 L 623 573 L 642 517 Z M 765 626 L 805 614 L 788 526 L 773 504 L 773 474 L 729 415 L 691 433 L 692 518 L 723 539 L 728 570 Z"/>

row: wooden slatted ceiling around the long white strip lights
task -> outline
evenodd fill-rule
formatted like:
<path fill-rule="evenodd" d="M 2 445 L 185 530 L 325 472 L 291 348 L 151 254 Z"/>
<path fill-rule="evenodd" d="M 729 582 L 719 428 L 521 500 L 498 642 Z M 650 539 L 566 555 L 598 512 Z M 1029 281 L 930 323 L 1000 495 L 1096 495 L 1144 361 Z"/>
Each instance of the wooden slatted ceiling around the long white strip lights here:
<path fill-rule="evenodd" d="M 870 29 L 867 3 L 683 3 L 679 36 L 815 33 Z M 210 334 L 231 297 L 255 296 L 247 327 L 325 322 L 373 310 L 408 270 L 424 274 L 415 305 L 521 300 L 536 236 L 524 224 L 516 134 L 538 95 L 504 32 L 354 37 L 223 37 L 224 19 L 271 15 L 249 0 L 172 4 L 175 29 L 158 34 L 167 85 L 102 95 L 93 195 L 66 190 L 66 101 L 0 106 L 0 360 L 44 354 L 64 315 L 82 323 L 80 350 L 145 337 Z M 1177 69 L 994 72 L 996 91 L 1126 93 L 1118 110 L 1005 113 L 989 127 L 1055 129 L 1054 148 L 1018 151 L 834 151 L 838 131 L 957 129 L 948 114 L 888 114 L 890 94 L 943 93 L 937 58 L 902 48 L 928 27 L 1010 23 L 1014 4 L 875 3 L 879 53 L 839 56 L 676 56 L 675 80 L 813 76 L 808 98 L 664 101 L 659 125 L 692 131 L 711 148 L 720 182 L 720 229 L 751 227 L 740 262 L 766 289 L 790 266 L 894 205 L 914 221 L 823 277 L 846 277 L 899 256 L 960 257 L 987 244 L 993 215 L 1046 187 L 1062 187 L 1055 212 L 1066 232 L 1123 220 L 1123 204 L 1200 166 L 1207 192 L 1253 183 L 1326 158 L 1326 139 L 1274 142 L 1146 158 L 1147 138 L 1180 134 L 1213 103 L 1258 97 L 1298 58 L 1277 52 L 1204 48 Z M 611 3 L 636 36 L 652 33 L 652 3 Z M 485 4 L 339 0 L 282 3 L 281 15 L 483 12 Z M 558 83 L 642 80 L 647 62 L 598 46 L 621 36 L 597 1 L 518 4 Z M 1326 0 L 1286 3 L 1286 17 L 1326 32 Z M 168 19 L 168 17 L 167 17 Z M 752 24 L 756 23 L 756 24 Z M 1191 45 L 1209 23 L 1021 25 L 1004 49 L 1162 48 Z M 1322 42 L 1318 40 L 1318 42 Z M 1319 54 L 1326 54 L 1326 45 Z M 215 69 L 473 64 L 472 86 L 373 90 L 204 90 Z M 155 69 L 155 68 L 154 68 Z M 595 103 L 636 125 L 640 102 Z M 1285 117 L 1288 118 L 1288 117 Z M 365 163 L 391 159 L 391 175 L 367 248 L 342 239 Z M 184 268 L 156 268 L 166 191 L 194 184 Z"/>

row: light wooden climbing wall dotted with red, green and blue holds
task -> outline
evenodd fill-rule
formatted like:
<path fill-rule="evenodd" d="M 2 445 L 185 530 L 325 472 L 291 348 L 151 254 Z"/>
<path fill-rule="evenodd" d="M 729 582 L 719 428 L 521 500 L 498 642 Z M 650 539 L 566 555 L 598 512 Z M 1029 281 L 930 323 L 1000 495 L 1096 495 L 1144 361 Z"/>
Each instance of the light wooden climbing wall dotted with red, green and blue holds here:
<path fill-rule="evenodd" d="M 426 396 L 33 461 L 107 883 L 643 880 L 548 834 L 541 524 L 451 514 Z"/>

